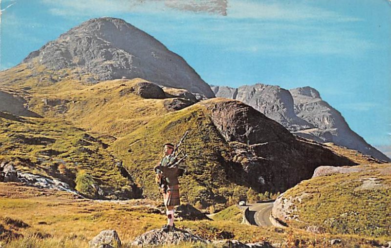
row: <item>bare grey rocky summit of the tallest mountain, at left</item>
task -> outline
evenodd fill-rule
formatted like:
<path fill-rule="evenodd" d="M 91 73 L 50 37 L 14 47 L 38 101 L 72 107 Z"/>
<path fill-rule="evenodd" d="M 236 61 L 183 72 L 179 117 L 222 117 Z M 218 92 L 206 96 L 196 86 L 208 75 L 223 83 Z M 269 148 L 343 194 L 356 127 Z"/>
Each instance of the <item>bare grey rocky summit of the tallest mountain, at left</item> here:
<path fill-rule="evenodd" d="M 54 71 L 78 68 L 90 82 L 143 78 L 159 85 L 187 89 L 211 98 L 214 93 L 187 62 L 162 43 L 121 19 L 91 19 L 30 53 Z M 57 83 L 59 82 L 56 80 Z"/>

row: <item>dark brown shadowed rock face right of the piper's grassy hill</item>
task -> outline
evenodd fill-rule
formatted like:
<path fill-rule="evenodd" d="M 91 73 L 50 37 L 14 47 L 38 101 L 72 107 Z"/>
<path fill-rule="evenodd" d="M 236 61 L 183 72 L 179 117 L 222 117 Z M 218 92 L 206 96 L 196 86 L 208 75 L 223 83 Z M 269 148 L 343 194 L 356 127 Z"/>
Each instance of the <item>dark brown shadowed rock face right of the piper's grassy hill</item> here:
<path fill-rule="evenodd" d="M 233 149 L 235 166 L 228 167 L 228 177 L 239 185 L 282 192 L 311 178 L 320 165 L 356 165 L 322 145 L 295 138 L 281 124 L 239 101 L 217 98 L 197 104 L 207 107 Z"/>

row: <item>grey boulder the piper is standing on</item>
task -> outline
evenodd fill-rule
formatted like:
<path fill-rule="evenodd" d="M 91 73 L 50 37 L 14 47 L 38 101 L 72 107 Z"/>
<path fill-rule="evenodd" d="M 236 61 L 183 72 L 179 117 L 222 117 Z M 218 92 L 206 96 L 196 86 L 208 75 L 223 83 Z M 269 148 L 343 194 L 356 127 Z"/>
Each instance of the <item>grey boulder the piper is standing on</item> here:
<path fill-rule="evenodd" d="M 171 232 L 165 232 L 162 228 L 153 229 L 140 236 L 131 243 L 132 246 L 160 246 L 160 245 L 177 245 L 181 242 L 200 242 L 208 241 L 191 234 L 188 231 L 174 229 Z"/>

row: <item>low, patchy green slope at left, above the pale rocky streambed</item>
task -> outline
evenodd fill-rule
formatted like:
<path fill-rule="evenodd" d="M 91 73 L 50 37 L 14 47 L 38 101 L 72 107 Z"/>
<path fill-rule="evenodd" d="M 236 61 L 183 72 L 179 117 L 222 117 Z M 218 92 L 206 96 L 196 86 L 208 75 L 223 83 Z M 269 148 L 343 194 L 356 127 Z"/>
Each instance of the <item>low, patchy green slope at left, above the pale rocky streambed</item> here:
<path fill-rule="evenodd" d="M 19 171 L 57 178 L 71 187 L 84 173 L 92 176 L 106 197 L 137 196 L 120 161 L 107 151 L 108 145 L 64 121 L 0 112 L 0 144 L 0 161 L 12 162 Z M 87 196 L 96 197 L 93 191 Z"/>

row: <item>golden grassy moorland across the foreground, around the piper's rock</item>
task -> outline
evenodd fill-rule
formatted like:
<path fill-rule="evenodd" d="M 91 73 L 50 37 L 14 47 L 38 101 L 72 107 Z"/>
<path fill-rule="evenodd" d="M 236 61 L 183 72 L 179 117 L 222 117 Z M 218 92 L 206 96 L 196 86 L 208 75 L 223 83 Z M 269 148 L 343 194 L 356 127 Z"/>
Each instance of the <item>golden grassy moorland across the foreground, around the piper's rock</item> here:
<path fill-rule="evenodd" d="M 156 203 L 146 200 L 97 202 L 74 199 L 59 191 L 0 183 L 0 245 L 6 248 L 87 248 L 88 241 L 103 229 L 117 230 L 125 248 L 145 231 L 161 227 L 163 214 L 153 213 Z M 176 226 L 211 240 L 268 241 L 282 247 L 331 247 L 341 239 L 346 247 L 385 244 L 384 239 L 354 235 L 313 234 L 295 228 L 259 228 L 232 221 L 177 221 Z M 177 247 L 202 247 L 182 244 Z"/>

